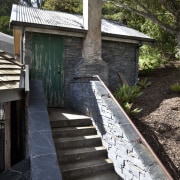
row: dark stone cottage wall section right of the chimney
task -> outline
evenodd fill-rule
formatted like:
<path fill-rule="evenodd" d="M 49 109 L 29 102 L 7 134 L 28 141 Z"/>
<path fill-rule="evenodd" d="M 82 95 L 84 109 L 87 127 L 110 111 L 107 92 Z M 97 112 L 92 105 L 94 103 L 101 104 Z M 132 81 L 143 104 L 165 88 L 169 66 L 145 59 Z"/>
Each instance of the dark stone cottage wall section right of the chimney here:
<path fill-rule="evenodd" d="M 138 76 L 137 44 L 103 41 L 102 59 L 109 67 L 109 88 L 115 91 L 121 82 L 119 73 L 122 73 L 129 85 L 137 82 Z"/>

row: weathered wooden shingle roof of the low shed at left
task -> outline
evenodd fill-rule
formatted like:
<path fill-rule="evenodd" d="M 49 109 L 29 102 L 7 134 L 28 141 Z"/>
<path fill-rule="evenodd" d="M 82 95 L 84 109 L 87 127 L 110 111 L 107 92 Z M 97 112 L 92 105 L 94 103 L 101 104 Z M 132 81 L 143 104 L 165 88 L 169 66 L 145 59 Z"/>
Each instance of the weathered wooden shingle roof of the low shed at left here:
<path fill-rule="evenodd" d="M 11 56 L 0 51 L 0 90 L 20 88 L 21 67 L 12 63 Z"/>

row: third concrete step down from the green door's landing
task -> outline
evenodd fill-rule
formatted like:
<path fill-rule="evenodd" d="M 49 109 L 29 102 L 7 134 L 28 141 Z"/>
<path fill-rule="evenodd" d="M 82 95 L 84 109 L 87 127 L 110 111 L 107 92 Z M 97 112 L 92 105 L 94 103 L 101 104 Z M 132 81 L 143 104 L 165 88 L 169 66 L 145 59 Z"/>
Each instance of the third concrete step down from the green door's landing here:
<path fill-rule="evenodd" d="M 102 145 L 99 135 L 54 138 L 54 142 L 57 150 Z"/>

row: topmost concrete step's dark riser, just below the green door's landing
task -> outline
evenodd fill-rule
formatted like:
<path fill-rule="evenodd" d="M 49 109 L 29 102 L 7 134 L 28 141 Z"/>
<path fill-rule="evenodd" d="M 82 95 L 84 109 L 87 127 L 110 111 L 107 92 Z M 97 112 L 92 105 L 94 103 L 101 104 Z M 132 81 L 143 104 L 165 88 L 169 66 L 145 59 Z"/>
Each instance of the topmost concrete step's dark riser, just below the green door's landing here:
<path fill-rule="evenodd" d="M 51 120 L 51 127 L 76 127 L 76 126 L 89 126 L 92 125 L 90 118 L 86 119 L 62 119 L 62 120 Z"/>

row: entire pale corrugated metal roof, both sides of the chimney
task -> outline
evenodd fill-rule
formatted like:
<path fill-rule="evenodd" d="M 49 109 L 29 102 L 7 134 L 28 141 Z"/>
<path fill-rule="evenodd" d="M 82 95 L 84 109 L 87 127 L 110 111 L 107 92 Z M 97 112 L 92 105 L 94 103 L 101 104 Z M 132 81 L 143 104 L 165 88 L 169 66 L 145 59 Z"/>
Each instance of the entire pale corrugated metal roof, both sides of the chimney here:
<path fill-rule="evenodd" d="M 68 14 L 64 12 L 56 12 L 49 10 L 42 10 L 32 7 L 25 7 L 20 5 L 13 5 L 11 12 L 11 25 L 23 25 L 28 27 L 39 27 L 39 25 L 49 26 L 51 28 L 63 29 L 68 28 L 71 31 L 86 30 L 83 27 L 83 17 L 80 15 Z M 67 30 L 67 29 L 66 29 Z M 102 19 L 101 25 L 102 33 L 106 35 L 125 36 L 125 38 L 137 38 L 144 41 L 152 41 L 149 36 L 124 26 L 119 23 Z"/>

